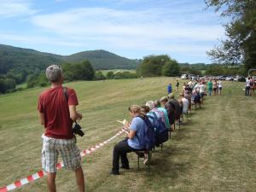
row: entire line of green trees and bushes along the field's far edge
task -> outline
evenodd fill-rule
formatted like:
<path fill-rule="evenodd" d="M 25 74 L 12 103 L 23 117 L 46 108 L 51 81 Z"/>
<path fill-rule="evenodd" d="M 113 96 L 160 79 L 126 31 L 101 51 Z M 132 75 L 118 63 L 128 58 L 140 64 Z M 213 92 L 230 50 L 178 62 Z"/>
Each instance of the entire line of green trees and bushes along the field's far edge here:
<path fill-rule="evenodd" d="M 229 67 L 219 64 L 207 65 L 204 63 L 179 64 L 168 55 L 145 56 L 138 65 L 136 73 L 131 73 L 129 71 L 113 73 L 113 71 L 110 71 L 104 75 L 102 71 L 96 71 L 91 66 L 90 61 L 66 62 L 61 64 L 61 67 L 66 82 L 77 80 L 136 79 L 142 76 L 177 77 L 183 73 L 202 75 L 202 72 L 207 75 L 245 75 L 247 73 L 247 70 L 243 65 Z M 26 82 L 26 88 L 15 88 L 16 84 L 20 84 L 22 82 Z M 49 85 L 49 81 L 46 79 L 44 71 L 39 70 L 38 68 L 34 70 L 34 73 L 26 71 L 20 73 L 15 73 L 14 71 L 14 73 L 12 73 L 12 71 L 10 71 L 6 75 L 0 75 L 1 94 L 47 85 Z"/>

